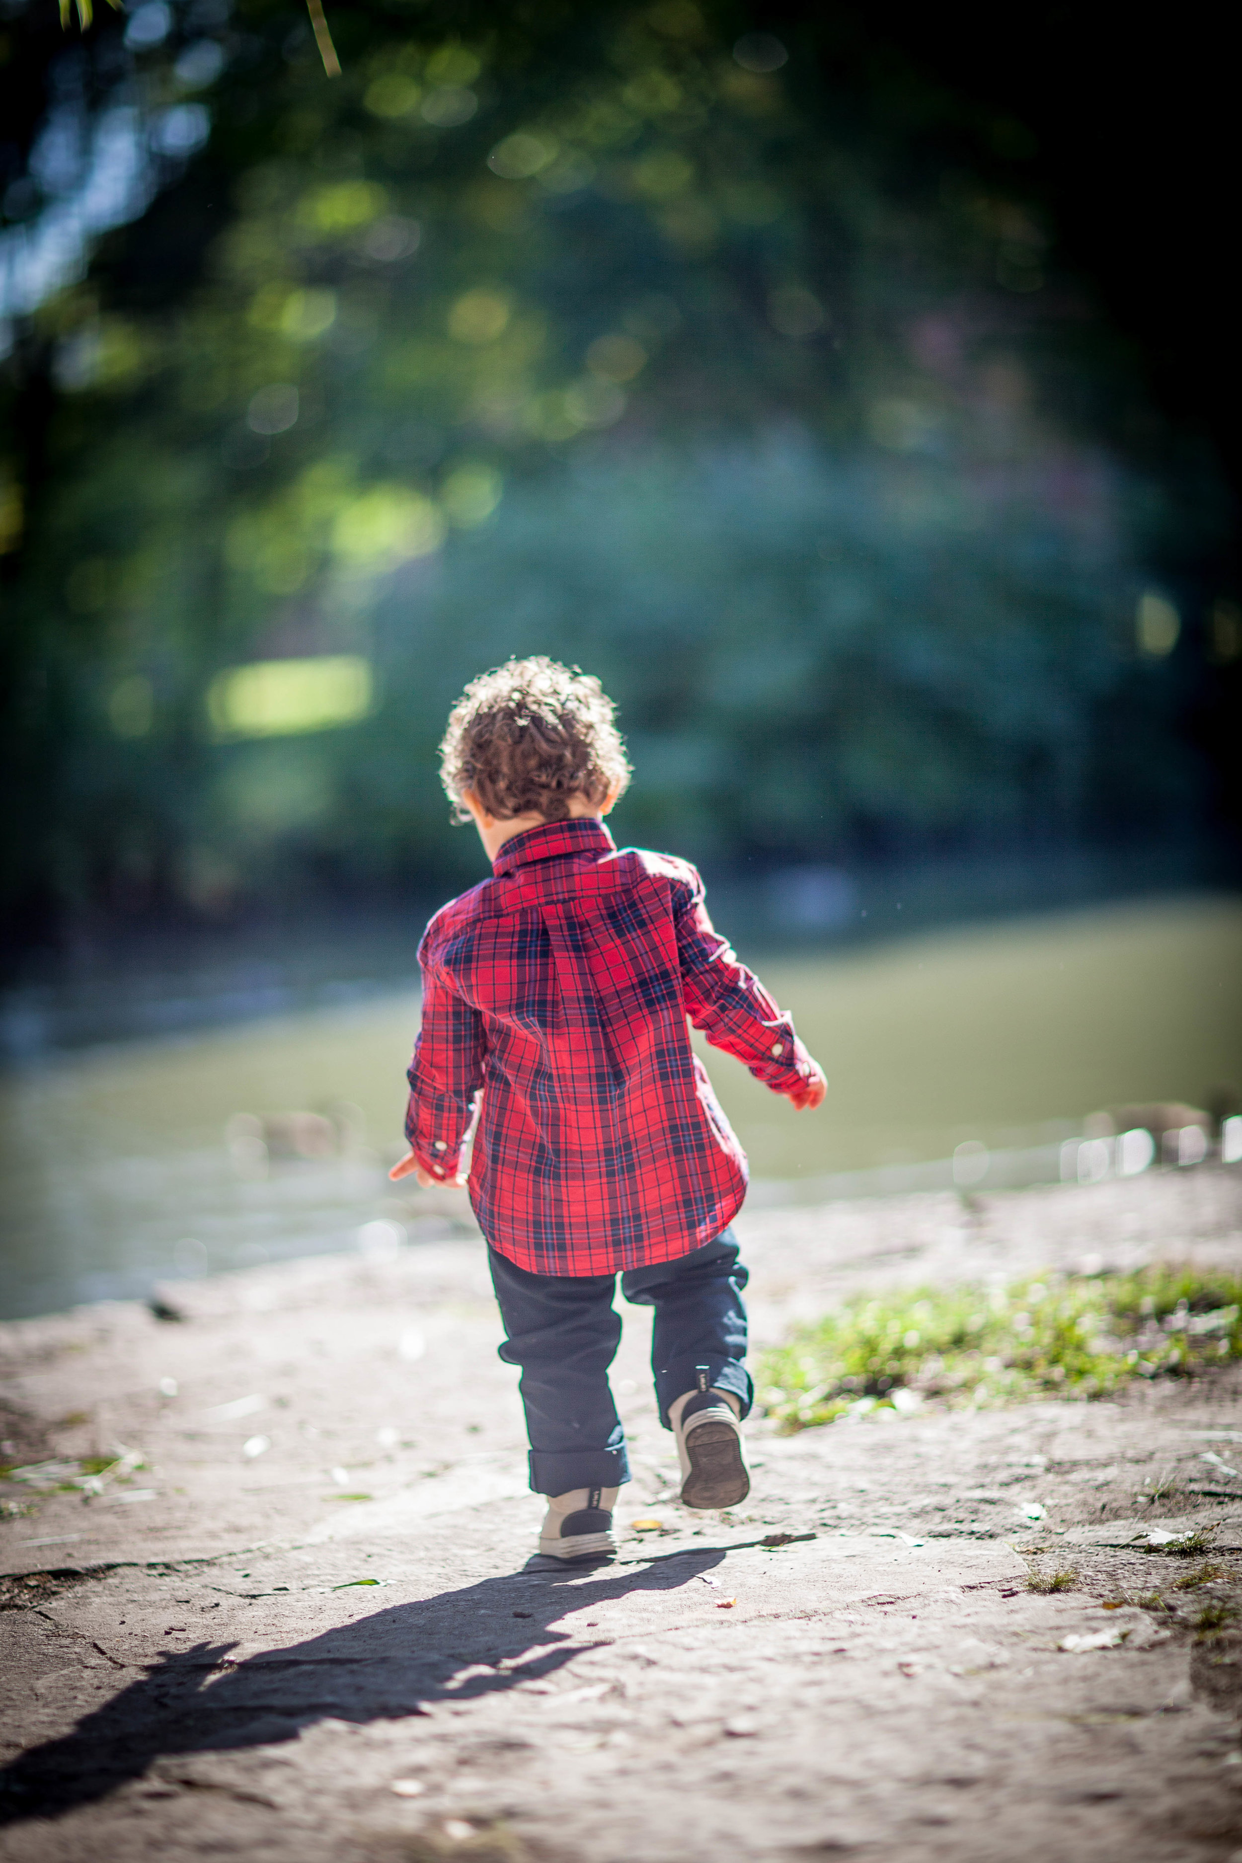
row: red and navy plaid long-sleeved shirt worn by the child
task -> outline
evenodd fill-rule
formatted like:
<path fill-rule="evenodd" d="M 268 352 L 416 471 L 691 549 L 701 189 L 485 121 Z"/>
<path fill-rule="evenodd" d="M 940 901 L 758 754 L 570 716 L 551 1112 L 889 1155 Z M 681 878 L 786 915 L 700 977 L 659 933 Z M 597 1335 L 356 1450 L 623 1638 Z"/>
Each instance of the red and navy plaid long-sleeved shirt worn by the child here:
<path fill-rule="evenodd" d="M 479 1226 L 534 1274 L 613 1274 L 713 1241 L 747 1157 L 685 1019 L 776 1092 L 812 1062 L 713 932 L 704 885 L 596 820 L 508 840 L 493 879 L 443 905 L 419 946 L 423 1028 L 406 1133 L 419 1164 L 469 1166 Z"/>

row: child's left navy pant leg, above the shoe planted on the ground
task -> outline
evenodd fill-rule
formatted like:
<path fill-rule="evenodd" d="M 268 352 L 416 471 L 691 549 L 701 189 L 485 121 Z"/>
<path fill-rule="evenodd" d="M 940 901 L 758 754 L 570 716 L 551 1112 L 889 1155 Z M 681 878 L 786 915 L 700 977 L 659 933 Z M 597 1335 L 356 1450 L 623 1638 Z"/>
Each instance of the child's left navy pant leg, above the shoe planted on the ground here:
<path fill-rule="evenodd" d="M 620 1343 L 614 1274 L 531 1274 L 488 1248 L 505 1323 L 499 1353 L 521 1366 L 521 1403 L 536 1494 L 629 1481 L 626 1433 L 609 1390 Z"/>

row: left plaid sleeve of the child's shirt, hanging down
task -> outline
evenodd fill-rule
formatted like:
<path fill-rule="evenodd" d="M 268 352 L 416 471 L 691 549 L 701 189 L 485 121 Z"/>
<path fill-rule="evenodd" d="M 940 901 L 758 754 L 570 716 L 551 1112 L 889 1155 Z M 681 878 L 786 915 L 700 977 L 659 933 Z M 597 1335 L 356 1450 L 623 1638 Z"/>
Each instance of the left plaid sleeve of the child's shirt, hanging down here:
<path fill-rule="evenodd" d="M 449 987 L 426 946 L 419 952 L 419 963 L 423 1027 L 408 1073 L 406 1138 L 425 1172 L 452 1179 L 484 1081 L 484 1023 L 479 1010 Z"/>

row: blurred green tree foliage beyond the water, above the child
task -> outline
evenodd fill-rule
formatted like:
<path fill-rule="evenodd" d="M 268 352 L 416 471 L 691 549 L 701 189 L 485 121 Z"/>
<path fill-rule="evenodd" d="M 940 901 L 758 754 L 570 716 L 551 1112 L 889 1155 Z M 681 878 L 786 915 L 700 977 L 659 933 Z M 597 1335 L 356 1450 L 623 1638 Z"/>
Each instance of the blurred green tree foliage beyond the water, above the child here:
<path fill-rule="evenodd" d="M 369 0 L 335 82 L 277 0 L 19 24 L 52 102 L 9 283 L 108 173 L 117 227 L 17 296 L 28 924 L 447 881 L 436 736 L 510 650 L 601 671 L 635 825 L 721 859 L 1203 812 L 1179 619 L 1134 613 L 1169 512 L 1207 551 L 1223 507 L 1102 449 L 1128 363 L 1084 352 L 1020 125 L 842 65 L 832 13 Z M 229 723 L 268 660 L 361 661 L 374 710 Z"/>

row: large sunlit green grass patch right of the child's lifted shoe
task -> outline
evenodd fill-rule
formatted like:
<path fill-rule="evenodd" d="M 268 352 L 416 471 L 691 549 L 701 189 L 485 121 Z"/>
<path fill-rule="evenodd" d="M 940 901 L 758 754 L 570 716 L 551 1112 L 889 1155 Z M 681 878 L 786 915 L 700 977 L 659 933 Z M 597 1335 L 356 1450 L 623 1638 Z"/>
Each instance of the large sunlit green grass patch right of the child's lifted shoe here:
<path fill-rule="evenodd" d="M 1043 1274 L 1009 1285 L 855 1295 L 760 1364 L 786 1429 L 924 1397 L 1104 1397 L 1130 1379 L 1242 1358 L 1242 1278 L 1201 1269 Z"/>

